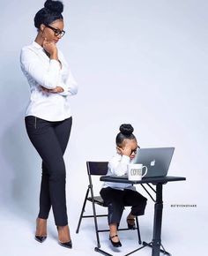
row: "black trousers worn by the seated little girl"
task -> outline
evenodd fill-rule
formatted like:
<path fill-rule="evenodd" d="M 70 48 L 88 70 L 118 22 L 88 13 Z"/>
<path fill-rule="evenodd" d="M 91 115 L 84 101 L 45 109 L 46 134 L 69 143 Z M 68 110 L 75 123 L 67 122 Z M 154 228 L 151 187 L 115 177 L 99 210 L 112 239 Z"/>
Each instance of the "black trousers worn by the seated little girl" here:
<path fill-rule="evenodd" d="M 107 187 L 100 190 L 100 196 L 108 207 L 108 224 L 119 225 L 124 207 L 131 207 L 131 215 L 145 214 L 146 198 L 137 191 Z"/>

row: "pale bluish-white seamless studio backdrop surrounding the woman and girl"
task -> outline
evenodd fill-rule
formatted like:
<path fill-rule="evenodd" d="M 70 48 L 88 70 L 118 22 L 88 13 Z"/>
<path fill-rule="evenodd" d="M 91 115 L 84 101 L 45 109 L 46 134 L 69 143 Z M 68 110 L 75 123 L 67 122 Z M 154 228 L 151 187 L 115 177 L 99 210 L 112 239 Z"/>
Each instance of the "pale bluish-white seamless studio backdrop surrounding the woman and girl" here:
<path fill-rule="evenodd" d="M 19 68 L 19 52 L 36 35 L 33 16 L 43 1 L 2 2 L 0 222 L 7 235 L 1 251 L 8 256 L 32 255 L 30 245 L 34 255 L 43 255 L 42 248 L 50 255 L 64 255 L 54 241 L 50 247 L 32 241 L 41 160 L 26 135 L 24 112 L 30 92 Z M 77 241 L 77 251 L 75 245 L 71 255 L 86 255 L 85 250 L 96 255 L 93 222 L 83 224 L 84 233 L 75 235 L 87 186 L 85 161 L 108 161 L 123 123 L 134 126 L 141 147 L 175 147 L 169 174 L 187 181 L 164 188 L 163 240 L 173 255 L 199 255 L 205 250 L 199 242 L 208 228 L 207 1 L 65 0 L 64 4 L 66 34 L 59 47 L 79 85 L 78 95 L 71 98 L 73 127 L 64 155 L 71 233 Z M 148 239 L 152 209 L 150 202 L 142 219 Z M 52 216 L 50 225 L 52 230 Z M 51 231 L 54 238 L 55 231 Z M 85 246 L 80 245 L 82 236 L 88 237 Z M 31 244 L 17 242 L 8 248 L 15 237 Z M 48 251 L 52 246 L 55 251 Z"/>

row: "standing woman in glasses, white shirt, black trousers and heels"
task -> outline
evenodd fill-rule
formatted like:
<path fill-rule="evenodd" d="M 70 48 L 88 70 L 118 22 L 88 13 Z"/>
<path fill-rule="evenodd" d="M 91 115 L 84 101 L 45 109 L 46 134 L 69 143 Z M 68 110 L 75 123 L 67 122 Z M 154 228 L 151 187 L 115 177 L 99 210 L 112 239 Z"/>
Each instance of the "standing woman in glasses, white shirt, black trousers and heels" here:
<path fill-rule="evenodd" d="M 59 244 L 71 248 L 65 196 L 63 154 L 71 133 L 69 98 L 78 87 L 56 43 L 65 34 L 63 4 L 47 0 L 34 17 L 38 34 L 21 50 L 21 69 L 31 88 L 26 109 L 26 132 L 42 159 L 40 210 L 35 239 L 47 238 L 47 219 L 53 209 Z"/>

